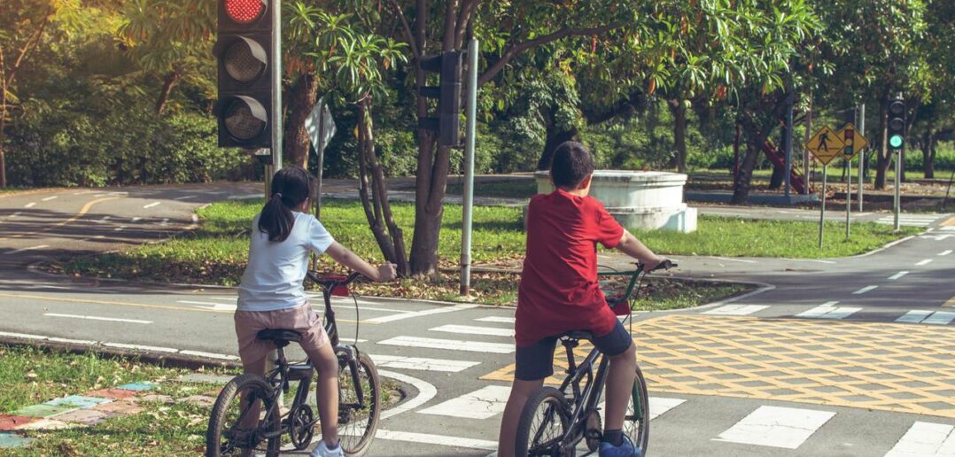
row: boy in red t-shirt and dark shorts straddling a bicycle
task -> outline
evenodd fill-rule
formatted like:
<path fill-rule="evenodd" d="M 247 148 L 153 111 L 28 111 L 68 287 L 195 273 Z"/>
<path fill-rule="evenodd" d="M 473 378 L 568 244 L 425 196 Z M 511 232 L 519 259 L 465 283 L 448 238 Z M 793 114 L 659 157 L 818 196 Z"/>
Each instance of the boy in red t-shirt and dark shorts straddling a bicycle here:
<path fill-rule="evenodd" d="M 531 198 L 527 208 L 527 254 L 515 322 L 517 370 L 500 424 L 499 457 L 514 455 L 520 411 L 554 373 L 557 335 L 569 330 L 592 332 L 594 345 L 610 358 L 600 456 L 640 455 L 622 431 L 636 376 L 636 349 L 600 290 L 596 243 L 642 260 L 647 271 L 665 259 L 624 230 L 600 201 L 588 197 L 593 170 L 583 144 L 563 143 L 554 152 L 550 170 L 557 189 Z"/>

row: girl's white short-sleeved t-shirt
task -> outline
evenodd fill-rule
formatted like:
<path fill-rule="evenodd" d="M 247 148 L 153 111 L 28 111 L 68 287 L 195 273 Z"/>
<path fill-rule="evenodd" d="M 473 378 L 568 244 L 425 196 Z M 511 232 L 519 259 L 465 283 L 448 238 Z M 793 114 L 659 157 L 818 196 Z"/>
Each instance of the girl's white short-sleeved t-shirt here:
<path fill-rule="evenodd" d="M 285 241 L 269 241 L 259 230 L 259 216 L 252 220 L 248 265 L 239 285 L 239 311 L 274 311 L 307 301 L 305 280 L 308 252 L 321 255 L 334 239 L 322 222 L 308 213 L 292 212 L 295 222 Z"/>

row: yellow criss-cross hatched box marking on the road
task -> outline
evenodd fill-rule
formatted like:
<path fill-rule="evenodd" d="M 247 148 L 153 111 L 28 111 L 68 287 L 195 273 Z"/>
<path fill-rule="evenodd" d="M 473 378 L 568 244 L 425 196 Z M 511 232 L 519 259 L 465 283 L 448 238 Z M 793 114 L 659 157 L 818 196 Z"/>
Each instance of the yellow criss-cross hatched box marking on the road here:
<path fill-rule="evenodd" d="M 955 418 L 950 326 L 674 315 L 633 328 L 653 392 Z M 482 379 L 510 381 L 513 370 Z"/>

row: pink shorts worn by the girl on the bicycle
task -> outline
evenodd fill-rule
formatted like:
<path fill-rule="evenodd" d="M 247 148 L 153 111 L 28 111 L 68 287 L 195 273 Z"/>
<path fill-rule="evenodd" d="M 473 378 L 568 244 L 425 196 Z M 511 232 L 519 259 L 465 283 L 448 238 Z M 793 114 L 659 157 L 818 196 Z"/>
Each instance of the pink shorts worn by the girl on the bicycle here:
<path fill-rule="evenodd" d="M 236 336 L 239 338 L 239 357 L 243 364 L 255 364 L 275 349 L 275 344 L 256 338 L 256 334 L 266 328 L 295 330 L 301 333 L 302 349 L 307 353 L 317 351 L 329 343 L 329 335 L 325 333 L 322 319 L 308 303 L 274 311 L 236 311 L 235 322 Z"/>

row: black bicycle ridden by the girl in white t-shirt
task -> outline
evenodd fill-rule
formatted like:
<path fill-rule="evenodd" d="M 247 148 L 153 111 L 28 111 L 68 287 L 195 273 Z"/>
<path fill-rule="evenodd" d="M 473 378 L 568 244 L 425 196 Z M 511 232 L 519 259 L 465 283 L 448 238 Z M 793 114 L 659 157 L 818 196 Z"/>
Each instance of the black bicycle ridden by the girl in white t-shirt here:
<path fill-rule="evenodd" d="M 346 455 L 357 457 L 368 451 L 381 414 L 381 384 L 371 358 L 354 344 L 341 344 L 331 297 L 349 296 L 348 286 L 358 273 L 348 277 L 320 278 L 308 272 L 308 279 L 322 289 L 325 301 L 325 330 L 338 356 L 338 434 Z M 354 295 L 351 294 L 352 298 Z M 358 301 L 355 299 L 357 312 Z M 355 339 L 357 341 L 357 328 Z M 285 329 L 266 329 L 259 340 L 271 341 L 278 349 L 275 368 L 265 376 L 246 373 L 225 384 L 216 400 L 206 431 L 207 457 L 224 455 L 278 455 L 283 435 L 296 450 L 308 447 L 319 420 L 307 404 L 315 370 L 308 361 L 289 364 L 284 347 L 298 343 L 301 335 Z M 295 396 L 285 413 L 280 405 L 290 383 L 298 382 Z M 256 419 L 253 419 L 256 418 Z"/>

